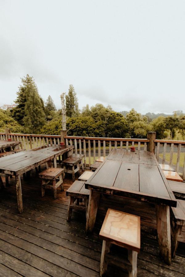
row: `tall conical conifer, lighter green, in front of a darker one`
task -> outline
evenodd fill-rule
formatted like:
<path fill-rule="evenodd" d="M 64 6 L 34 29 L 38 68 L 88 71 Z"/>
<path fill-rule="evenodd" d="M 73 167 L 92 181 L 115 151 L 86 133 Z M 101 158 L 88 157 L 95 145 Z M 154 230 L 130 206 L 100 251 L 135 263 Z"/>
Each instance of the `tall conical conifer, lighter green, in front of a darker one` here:
<path fill-rule="evenodd" d="M 38 133 L 45 123 L 45 113 L 38 93 L 37 86 L 31 77 L 26 89 L 25 116 L 23 119 L 26 133 Z"/>

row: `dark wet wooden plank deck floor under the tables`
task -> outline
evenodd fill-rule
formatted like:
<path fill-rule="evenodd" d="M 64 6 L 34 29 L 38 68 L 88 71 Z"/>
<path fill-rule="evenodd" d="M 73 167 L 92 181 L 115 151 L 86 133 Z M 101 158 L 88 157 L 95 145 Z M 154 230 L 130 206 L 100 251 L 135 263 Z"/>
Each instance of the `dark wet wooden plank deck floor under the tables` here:
<path fill-rule="evenodd" d="M 0 191 L 0 276 L 99 276 L 99 231 L 108 208 L 141 216 L 138 276 L 184 276 L 183 243 L 179 244 L 171 266 L 159 257 L 153 204 L 128 199 L 123 203 L 118 197 L 101 196 L 93 234 L 86 236 L 85 214 L 74 211 L 71 222 L 66 221 L 65 191 L 72 184 L 71 179 L 64 179 L 65 191 L 58 189 L 58 199 L 53 199 L 51 191 L 41 198 L 40 179 L 32 170 L 31 178 L 22 180 L 22 214 L 17 211 L 14 181 L 13 177 L 10 186 Z M 109 266 L 106 276 L 128 274 Z"/>

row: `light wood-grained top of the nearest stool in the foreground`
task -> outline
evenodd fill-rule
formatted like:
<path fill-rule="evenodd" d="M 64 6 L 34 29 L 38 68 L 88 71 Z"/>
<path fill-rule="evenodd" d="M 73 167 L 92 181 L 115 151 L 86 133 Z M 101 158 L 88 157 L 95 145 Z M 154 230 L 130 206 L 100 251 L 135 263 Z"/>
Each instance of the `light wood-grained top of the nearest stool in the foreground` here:
<path fill-rule="evenodd" d="M 129 250 L 140 251 L 140 217 L 108 209 L 100 237 Z"/>

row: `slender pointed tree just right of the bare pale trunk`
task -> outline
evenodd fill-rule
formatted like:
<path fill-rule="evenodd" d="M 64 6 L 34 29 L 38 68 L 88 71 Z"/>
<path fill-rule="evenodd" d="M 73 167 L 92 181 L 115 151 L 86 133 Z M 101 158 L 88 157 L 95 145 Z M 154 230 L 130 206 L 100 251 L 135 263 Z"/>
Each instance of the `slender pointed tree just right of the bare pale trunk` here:
<path fill-rule="evenodd" d="M 65 95 L 66 99 L 66 115 L 74 117 L 79 115 L 78 98 L 73 85 L 69 85 L 68 94 Z"/>

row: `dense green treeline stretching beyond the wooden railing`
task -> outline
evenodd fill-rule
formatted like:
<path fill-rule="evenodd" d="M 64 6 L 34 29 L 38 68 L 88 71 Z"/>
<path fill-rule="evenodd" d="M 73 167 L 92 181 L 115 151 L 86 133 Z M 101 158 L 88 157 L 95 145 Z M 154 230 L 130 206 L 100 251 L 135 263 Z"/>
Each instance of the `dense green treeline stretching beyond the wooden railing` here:
<path fill-rule="evenodd" d="M 175 137 L 178 130 L 185 139 L 185 114 L 174 112 L 170 116 L 148 113 L 141 115 L 136 110 L 116 112 L 111 106 L 87 104 L 79 110 L 78 98 L 72 85 L 65 95 L 68 135 L 146 138 L 148 131 L 156 131 L 157 139 Z M 28 74 L 21 79 L 15 100 L 17 106 L 10 111 L 0 110 L 0 131 L 10 128 L 12 132 L 29 134 L 60 134 L 61 110 L 56 110 L 49 95 L 46 102 L 40 97 L 33 77 Z M 151 115 L 151 117 L 150 117 Z"/>

